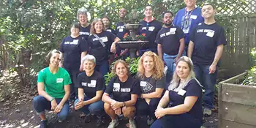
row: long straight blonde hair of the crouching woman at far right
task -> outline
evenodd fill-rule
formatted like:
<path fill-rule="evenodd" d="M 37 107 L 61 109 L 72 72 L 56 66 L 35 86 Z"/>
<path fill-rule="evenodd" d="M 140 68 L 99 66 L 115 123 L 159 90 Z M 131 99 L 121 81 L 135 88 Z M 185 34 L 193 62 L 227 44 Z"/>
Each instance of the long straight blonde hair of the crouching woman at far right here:
<path fill-rule="evenodd" d="M 170 86 L 168 87 L 168 90 L 173 90 L 178 88 L 179 89 L 184 89 L 187 86 L 187 83 L 189 83 L 190 80 L 195 79 L 195 72 L 193 71 L 193 62 L 191 59 L 189 59 L 189 57 L 187 56 L 182 56 L 180 59 L 178 59 L 177 61 L 177 65 L 180 61 L 184 61 L 185 63 L 187 63 L 187 65 L 189 66 L 189 75 L 187 76 L 187 79 L 184 80 L 183 83 L 180 83 L 181 78 L 178 77 L 177 72 L 175 71 L 173 73 L 173 80 L 170 82 Z M 198 81 L 197 81 L 198 82 Z"/>

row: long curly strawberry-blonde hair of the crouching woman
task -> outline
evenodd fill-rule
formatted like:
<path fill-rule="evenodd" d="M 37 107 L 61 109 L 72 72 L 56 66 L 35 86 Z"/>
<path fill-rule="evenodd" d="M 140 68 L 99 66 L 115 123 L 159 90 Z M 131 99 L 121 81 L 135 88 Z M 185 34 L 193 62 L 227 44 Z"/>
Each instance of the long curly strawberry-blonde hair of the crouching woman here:
<path fill-rule="evenodd" d="M 138 62 L 138 77 L 144 78 L 145 69 L 143 67 L 143 60 L 146 56 L 151 56 L 154 61 L 154 68 L 153 68 L 153 75 L 152 78 L 154 79 L 160 79 L 164 76 L 164 63 L 163 61 L 157 56 L 156 53 L 153 53 L 151 51 L 147 51 L 143 54 L 143 56 L 140 57 L 140 60 Z"/>

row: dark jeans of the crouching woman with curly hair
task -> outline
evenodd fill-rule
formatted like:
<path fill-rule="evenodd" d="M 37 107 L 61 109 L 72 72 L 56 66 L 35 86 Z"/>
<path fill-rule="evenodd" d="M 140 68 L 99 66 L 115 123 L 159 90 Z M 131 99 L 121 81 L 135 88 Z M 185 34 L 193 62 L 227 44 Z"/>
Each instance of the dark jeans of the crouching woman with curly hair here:
<path fill-rule="evenodd" d="M 157 105 L 161 98 L 152 98 L 148 103 L 145 99 L 138 99 L 136 103 L 136 115 L 138 116 L 150 116 L 151 118 L 156 118 L 154 112 L 157 109 Z"/>

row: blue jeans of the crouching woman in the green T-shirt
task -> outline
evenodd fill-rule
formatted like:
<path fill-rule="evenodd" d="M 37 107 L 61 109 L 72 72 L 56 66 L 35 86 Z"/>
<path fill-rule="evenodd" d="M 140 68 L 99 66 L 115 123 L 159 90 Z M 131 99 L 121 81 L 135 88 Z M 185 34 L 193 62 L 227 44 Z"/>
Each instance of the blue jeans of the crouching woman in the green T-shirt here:
<path fill-rule="evenodd" d="M 61 102 L 61 98 L 57 98 L 56 102 L 59 105 L 59 102 Z M 38 115 L 44 114 L 45 110 L 50 110 L 51 108 L 51 104 L 50 101 L 48 101 L 47 99 L 45 99 L 45 97 L 42 96 L 37 96 L 33 98 L 32 101 L 34 110 L 37 111 Z M 58 118 L 60 121 L 64 121 L 67 116 L 69 114 L 69 102 L 65 102 L 65 104 L 63 105 L 63 108 L 61 109 L 61 111 L 59 113 L 57 113 Z"/>

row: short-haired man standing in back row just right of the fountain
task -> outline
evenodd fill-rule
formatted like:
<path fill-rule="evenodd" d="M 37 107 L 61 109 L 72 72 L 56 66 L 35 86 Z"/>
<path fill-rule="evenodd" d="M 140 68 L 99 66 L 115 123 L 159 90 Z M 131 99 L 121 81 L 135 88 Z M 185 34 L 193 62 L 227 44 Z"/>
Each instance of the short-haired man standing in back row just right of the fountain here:
<path fill-rule="evenodd" d="M 146 34 L 146 40 L 148 43 L 143 48 L 139 50 L 139 56 L 142 56 L 144 52 L 151 50 L 154 53 L 157 53 L 157 43 L 155 43 L 157 33 L 162 29 L 162 24 L 153 17 L 153 9 L 150 5 L 145 7 L 144 10 L 145 18 L 140 21 L 139 24 L 142 26 L 139 27 L 139 34 Z"/>

